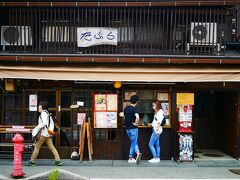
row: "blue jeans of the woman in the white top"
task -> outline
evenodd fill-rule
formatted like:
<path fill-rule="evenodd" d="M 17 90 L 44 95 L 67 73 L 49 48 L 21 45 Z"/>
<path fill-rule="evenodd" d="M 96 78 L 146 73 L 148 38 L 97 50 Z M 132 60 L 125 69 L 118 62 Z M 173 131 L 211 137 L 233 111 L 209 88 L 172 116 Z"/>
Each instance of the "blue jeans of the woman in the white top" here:
<path fill-rule="evenodd" d="M 149 141 L 149 148 L 154 158 L 160 158 L 160 135 L 156 135 L 154 130 Z"/>

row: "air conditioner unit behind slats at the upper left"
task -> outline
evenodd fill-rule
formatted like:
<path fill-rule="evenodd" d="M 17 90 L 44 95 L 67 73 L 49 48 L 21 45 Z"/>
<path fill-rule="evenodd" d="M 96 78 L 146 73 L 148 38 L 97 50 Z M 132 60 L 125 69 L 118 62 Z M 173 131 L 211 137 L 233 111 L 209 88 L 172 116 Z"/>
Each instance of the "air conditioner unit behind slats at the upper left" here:
<path fill-rule="evenodd" d="M 30 26 L 1 26 L 1 45 L 32 45 Z"/>

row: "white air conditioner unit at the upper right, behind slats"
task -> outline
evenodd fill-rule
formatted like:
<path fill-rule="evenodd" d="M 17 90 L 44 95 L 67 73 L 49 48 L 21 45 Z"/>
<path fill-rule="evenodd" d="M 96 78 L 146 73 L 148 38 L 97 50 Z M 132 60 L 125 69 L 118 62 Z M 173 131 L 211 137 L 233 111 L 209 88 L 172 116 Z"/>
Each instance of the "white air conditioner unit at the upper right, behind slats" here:
<path fill-rule="evenodd" d="M 191 23 L 191 45 L 216 45 L 217 23 L 192 22 Z"/>

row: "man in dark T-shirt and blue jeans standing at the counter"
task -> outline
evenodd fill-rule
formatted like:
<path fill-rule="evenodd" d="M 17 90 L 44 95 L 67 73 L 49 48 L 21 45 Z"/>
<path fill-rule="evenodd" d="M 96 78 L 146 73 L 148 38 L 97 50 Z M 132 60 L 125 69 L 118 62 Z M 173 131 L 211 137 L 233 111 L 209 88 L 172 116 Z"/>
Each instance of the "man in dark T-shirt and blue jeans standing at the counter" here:
<path fill-rule="evenodd" d="M 129 150 L 129 163 L 140 163 L 141 153 L 138 147 L 138 123 L 139 123 L 139 114 L 136 109 L 136 105 L 139 98 L 137 95 L 130 97 L 130 105 L 124 109 L 124 121 L 127 135 L 131 141 L 131 147 Z M 135 153 L 137 154 L 136 159 L 134 159 Z"/>

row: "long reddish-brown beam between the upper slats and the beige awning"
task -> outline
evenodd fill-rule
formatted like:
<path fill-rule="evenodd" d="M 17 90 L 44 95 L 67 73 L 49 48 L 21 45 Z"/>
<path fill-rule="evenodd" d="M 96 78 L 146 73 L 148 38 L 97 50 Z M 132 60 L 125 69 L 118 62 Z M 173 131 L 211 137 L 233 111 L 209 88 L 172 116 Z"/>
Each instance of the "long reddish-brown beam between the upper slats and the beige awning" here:
<path fill-rule="evenodd" d="M 139 63 L 139 64 L 240 64 L 240 58 L 174 58 L 174 57 L 77 57 L 77 56 L 0 56 L 0 62 L 56 62 L 56 63 Z"/>

